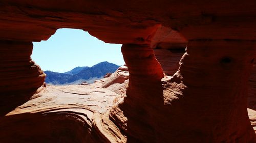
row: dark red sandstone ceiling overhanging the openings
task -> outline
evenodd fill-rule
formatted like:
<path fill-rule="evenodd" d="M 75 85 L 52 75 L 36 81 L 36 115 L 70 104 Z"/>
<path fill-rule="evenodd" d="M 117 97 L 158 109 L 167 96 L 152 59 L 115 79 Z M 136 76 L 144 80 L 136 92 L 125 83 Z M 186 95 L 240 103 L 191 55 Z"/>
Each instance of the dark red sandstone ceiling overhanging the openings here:
<path fill-rule="evenodd" d="M 221 3 L 221 5 L 220 5 Z M 91 31 L 105 42 L 145 43 L 163 24 L 192 39 L 255 39 L 254 1 L 9 1 L 1 3 L 1 39 L 40 41 L 57 28 Z M 232 7 L 230 7 L 232 6 Z M 15 26 L 10 26 L 15 23 Z M 120 34 L 121 33 L 121 34 Z M 23 36 L 22 36 L 23 35 Z M 176 37 L 178 35 L 173 35 Z"/>

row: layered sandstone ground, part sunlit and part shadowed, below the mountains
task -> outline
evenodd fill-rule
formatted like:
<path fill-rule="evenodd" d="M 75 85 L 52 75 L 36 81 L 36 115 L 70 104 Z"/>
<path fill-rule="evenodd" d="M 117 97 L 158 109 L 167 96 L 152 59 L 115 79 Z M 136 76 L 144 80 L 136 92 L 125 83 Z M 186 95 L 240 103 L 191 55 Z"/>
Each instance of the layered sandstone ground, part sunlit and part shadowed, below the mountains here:
<path fill-rule="evenodd" d="M 93 84 L 45 85 L 27 103 L 0 119 L 3 142 L 126 142 L 106 116 L 125 96 L 129 72 L 120 67 Z M 255 98 L 249 98 L 251 104 Z M 248 108 L 256 132 L 256 111 Z M 104 119 L 104 121 L 103 121 Z"/>

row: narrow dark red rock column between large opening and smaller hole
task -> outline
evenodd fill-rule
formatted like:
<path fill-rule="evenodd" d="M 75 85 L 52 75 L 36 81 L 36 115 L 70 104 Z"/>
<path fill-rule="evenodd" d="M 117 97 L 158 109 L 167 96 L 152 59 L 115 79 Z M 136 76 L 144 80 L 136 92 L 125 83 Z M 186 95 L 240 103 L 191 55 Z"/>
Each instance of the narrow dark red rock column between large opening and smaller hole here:
<path fill-rule="evenodd" d="M 130 73 L 129 88 L 124 101 L 112 108 L 110 117 L 126 132 L 127 142 L 155 140 L 151 116 L 158 109 L 156 105 L 163 103 L 163 70 L 148 45 L 123 44 L 122 53 Z"/>

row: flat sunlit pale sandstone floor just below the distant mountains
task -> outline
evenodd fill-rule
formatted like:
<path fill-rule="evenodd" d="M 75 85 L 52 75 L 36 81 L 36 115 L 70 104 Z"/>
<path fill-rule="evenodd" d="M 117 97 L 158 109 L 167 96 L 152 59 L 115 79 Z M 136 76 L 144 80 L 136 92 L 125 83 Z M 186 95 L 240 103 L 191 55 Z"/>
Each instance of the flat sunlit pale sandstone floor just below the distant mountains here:
<path fill-rule="evenodd" d="M 6 116 L 20 113 L 36 113 L 56 110 L 86 111 L 104 113 L 109 110 L 118 95 L 100 87 L 100 83 L 89 85 L 47 85 L 31 100 L 18 106 Z"/>

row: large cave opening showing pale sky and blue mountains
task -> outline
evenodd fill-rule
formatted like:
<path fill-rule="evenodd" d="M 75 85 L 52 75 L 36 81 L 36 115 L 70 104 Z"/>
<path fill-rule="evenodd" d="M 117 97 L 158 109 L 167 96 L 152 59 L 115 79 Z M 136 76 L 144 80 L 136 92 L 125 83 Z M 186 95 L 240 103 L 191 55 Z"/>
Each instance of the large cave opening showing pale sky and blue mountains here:
<path fill-rule="evenodd" d="M 47 41 L 33 42 L 31 58 L 53 85 L 93 83 L 124 65 L 121 44 L 72 28 L 59 28 Z"/>

